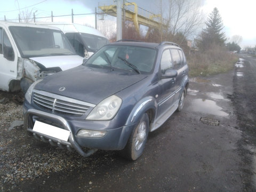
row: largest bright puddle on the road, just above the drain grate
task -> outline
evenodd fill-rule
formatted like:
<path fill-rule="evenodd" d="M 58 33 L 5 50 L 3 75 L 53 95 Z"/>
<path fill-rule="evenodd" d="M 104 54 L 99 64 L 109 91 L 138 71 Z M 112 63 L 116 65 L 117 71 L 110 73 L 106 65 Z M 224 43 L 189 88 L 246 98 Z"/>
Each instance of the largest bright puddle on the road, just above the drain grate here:
<path fill-rule="evenodd" d="M 222 111 L 222 108 L 217 106 L 216 102 L 208 99 L 194 99 L 191 102 L 191 108 L 194 111 L 208 113 L 218 116 L 228 116 L 228 113 Z"/>

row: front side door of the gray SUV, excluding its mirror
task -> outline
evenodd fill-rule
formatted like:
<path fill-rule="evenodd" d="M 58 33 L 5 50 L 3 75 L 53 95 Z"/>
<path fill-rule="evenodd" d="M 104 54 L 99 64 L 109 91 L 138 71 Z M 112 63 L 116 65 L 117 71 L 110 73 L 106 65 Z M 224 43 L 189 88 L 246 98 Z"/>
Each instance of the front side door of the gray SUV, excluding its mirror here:
<path fill-rule="evenodd" d="M 162 53 L 160 69 L 159 69 L 159 95 L 158 95 L 158 117 L 170 109 L 174 102 L 175 96 L 175 78 L 161 78 L 167 69 L 173 69 L 173 61 L 170 49 L 166 49 Z"/>

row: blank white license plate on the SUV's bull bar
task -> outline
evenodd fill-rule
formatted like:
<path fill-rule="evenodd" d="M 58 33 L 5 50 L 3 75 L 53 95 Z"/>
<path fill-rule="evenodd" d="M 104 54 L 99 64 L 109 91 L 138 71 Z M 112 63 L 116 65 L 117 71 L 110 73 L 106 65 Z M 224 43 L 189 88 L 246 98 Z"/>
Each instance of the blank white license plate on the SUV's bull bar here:
<path fill-rule="evenodd" d="M 70 131 L 60 129 L 59 127 L 55 127 L 46 123 L 36 121 L 33 127 L 33 131 L 38 133 L 42 133 L 45 135 L 49 135 L 51 137 L 61 139 L 63 141 L 68 141 L 68 137 Z"/>

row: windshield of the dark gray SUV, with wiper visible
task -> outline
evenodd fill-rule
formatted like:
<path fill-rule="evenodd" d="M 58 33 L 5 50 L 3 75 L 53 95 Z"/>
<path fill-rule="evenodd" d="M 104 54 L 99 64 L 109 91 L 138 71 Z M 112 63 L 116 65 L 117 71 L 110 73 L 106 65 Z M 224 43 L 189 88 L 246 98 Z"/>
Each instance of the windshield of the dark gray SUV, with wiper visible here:
<path fill-rule="evenodd" d="M 89 67 L 125 69 L 134 73 L 150 73 L 153 69 L 156 50 L 123 45 L 108 45 L 93 54 L 85 63 Z"/>

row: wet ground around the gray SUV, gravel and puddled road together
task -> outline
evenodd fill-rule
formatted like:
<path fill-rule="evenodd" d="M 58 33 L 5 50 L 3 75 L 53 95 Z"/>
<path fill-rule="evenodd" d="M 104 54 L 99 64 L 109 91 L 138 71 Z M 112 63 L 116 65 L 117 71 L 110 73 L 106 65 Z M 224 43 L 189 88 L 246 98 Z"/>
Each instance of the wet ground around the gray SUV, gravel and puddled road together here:
<path fill-rule="evenodd" d="M 0 191 L 256 191 L 256 59 L 190 79 L 186 103 L 141 158 L 88 158 L 28 138 L 22 95 L 0 91 Z"/>

